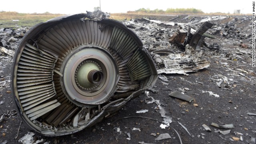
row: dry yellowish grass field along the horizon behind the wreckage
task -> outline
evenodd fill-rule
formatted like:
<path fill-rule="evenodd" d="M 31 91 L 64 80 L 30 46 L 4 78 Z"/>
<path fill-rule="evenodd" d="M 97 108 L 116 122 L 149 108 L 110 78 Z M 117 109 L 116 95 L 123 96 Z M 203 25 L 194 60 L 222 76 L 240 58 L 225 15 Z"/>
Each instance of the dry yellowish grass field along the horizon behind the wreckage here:
<path fill-rule="evenodd" d="M 57 16 L 62 16 L 64 14 L 50 14 L 45 12 L 43 14 L 24 14 L 18 12 L 0 12 L 0 28 L 20 28 L 20 27 L 32 27 L 35 24 L 40 22 L 46 22 Z M 141 13 L 141 12 L 132 12 L 132 13 L 115 13 L 110 14 L 111 19 L 115 20 L 130 20 L 133 18 L 159 18 L 160 20 L 170 20 L 171 18 L 177 15 L 191 15 L 191 14 L 178 14 L 178 13 Z M 213 13 L 213 14 L 196 14 L 195 16 L 216 16 L 216 15 L 233 15 L 233 14 L 223 14 L 223 13 Z M 18 21 L 17 21 L 18 20 Z"/>

